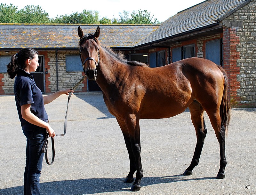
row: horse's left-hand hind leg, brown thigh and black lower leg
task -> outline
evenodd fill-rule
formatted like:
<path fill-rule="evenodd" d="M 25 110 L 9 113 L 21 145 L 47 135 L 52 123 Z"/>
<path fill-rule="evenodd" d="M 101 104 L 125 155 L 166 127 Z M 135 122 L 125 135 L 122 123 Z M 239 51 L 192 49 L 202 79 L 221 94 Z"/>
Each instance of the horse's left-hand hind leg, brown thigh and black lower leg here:
<path fill-rule="evenodd" d="M 204 109 L 200 103 L 194 100 L 189 105 L 192 123 L 196 129 L 196 148 L 194 156 L 189 167 L 185 170 L 183 175 L 192 175 L 192 170 L 198 165 L 199 158 L 204 145 L 204 139 L 207 133 L 207 129 L 204 122 Z"/>

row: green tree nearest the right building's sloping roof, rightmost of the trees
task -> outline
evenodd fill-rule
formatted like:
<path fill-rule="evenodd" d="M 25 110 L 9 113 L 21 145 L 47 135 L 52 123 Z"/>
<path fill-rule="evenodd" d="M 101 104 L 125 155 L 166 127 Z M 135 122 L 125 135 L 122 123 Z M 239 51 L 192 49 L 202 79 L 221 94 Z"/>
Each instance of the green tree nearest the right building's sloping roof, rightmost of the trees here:
<path fill-rule="evenodd" d="M 130 24 L 158 24 L 158 20 L 155 18 L 152 21 L 154 15 L 151 17 L 150 12 L 148 13 L 147 10 L 141 11 L 132 11 L 131 13 L 132 19 Z"/>

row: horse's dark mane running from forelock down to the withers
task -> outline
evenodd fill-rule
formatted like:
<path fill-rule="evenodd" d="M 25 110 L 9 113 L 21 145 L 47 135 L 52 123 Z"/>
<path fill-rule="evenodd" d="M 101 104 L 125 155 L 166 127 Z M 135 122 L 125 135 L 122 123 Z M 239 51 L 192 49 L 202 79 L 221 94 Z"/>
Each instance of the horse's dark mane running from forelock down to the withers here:
<path fill-rule="evenodd" d="M 101 45 L 100 44 L 100 41 L 98 39 L 96 39 L 93 34 L 85 34 L 79 41 L 79 46 L 81 46 L 84 41 L 86 39 L 93 39 L 97 44 Z M 114 57 L 116 60 L 122 62 L 122 63 L 125 63 L 125 64 L 129 64 L 129 65 L 132 65 L 132 66 L 141 66 L 141 67 L 148 67 L 147 64 L 145 63 L 142 63 L 142 62 L 138 62 L 138 61 L 127 61 L 124 57 L 124 54 L 122 52 L 119 52 L 119 53 L 116 53 L 114 52 L 110 47 L 107 47 L 105 45 L 101 45 L 101 47 L 109 54 L 111 55 L 112 57 Z"/>

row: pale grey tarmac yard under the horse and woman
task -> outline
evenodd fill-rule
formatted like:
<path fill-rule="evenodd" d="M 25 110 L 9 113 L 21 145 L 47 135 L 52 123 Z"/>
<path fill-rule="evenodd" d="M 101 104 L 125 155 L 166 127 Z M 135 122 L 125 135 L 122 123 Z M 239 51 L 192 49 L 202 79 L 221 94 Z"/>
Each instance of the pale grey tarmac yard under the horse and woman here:
<path fill-rule="evenodd" d="M 63 133 L 67 99 L 61 95 L 45 105 L 56 133 Z M 23 194 L 26 138 L 14 96 L 0 96 L 0 103 L 0 194 Z M 219 143 L 204 117 L 208 133 L 191 176 L 182 175 L 196 146 L 189 110 L 169 119 L 140 120 L 144 176 L 140 191 L 131 192 L 132 184 L 123 183 L 130 168 L 124 138 L 102 93 L 74 93 L 67 134 L 54 138 L 55 161 L 43 162 L 41 194 L 256 194 L 256 108 L 231 111 L 224 179 L 215 178 Z"/>

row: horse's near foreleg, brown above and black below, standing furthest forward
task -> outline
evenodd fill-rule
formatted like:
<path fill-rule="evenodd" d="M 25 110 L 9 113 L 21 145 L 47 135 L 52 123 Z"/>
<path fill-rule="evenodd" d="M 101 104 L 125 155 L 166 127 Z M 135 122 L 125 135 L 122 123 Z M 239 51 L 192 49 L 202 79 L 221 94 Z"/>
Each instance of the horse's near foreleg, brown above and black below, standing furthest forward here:
<path fill-rule="evenodd" d="M 143 177 L 143 170 L 141 165 L 140 158 L 140 125 L 139 119 L 136 119 L 135 115 L 129 115 L 127 119 L 125 119 L 125 124 L 129 132 L 129 138 L 131 141 L 132 153 L 134 155 L 135 164 L 136 164 L 136 179 L 132 184 L 131 191 L 139 191 L 140 190 L 140 180 Z"/>

